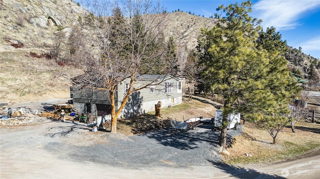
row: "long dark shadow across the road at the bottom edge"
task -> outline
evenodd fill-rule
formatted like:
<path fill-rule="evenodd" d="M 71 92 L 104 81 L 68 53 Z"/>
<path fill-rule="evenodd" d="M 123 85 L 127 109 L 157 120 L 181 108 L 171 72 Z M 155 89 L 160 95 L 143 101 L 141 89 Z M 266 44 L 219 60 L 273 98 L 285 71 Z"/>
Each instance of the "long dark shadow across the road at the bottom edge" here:
<path fill-rule="evenodd" d="M 231 166 L 211 160 L 208 160 L 208 162 L 210 162 L 216 168 L 221 169 L 225 173 L 228 173 L 232 177 L 236 177 L 238 179 L 285 179 L 278 175 L 264 174 L 254 169 L 245 169 L 242 167 Z"/>

